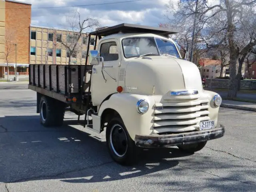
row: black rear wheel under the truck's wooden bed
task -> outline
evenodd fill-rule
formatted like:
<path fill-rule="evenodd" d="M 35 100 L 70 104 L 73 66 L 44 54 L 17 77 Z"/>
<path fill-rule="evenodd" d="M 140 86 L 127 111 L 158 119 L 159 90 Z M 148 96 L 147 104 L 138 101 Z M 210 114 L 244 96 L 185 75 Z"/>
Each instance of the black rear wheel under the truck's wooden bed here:
<path fill-rule="evenodd" d="M 40 123 L 44 127 L 61 126 L 65 114 L 65 104 L 53 98 L 42 96 L 40 100 Z"/>

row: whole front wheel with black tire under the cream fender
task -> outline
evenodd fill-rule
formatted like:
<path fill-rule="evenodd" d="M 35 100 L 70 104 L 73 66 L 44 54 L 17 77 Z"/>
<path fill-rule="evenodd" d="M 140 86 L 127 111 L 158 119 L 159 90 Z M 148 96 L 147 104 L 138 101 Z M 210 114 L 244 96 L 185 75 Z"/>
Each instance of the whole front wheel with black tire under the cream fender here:
<path fill-rule="evenodd" d="M 118 137 L 115 136 L 116 134 L 118 134 Z M 120 141 L 120 139 L 122 139 L 122 141 Z M 137 150 L 135 142 L 130 137 L 120 117 L 114 117 L 108 122 L 106 127 L 106 143 L 108 152 L 115 162 L 119 163 L 120 165 L 132 165 L 136 163 L 138 156 L 136 153 Z M 116 149 L 117 143 L 119 143 L 118 146 L 122 147 Z"/>

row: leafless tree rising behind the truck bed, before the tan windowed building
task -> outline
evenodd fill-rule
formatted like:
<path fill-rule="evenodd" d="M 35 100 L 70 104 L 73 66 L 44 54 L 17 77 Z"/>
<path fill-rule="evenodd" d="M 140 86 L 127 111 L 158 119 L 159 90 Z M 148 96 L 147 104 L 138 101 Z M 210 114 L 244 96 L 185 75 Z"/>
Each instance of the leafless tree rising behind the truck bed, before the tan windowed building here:
<path fill-rule="evenodd" d="M 83 37 L 85 30 L 92 29 L 94 27 L 99 27 L 100 24 L 98 20 L 92 18 L 82 19 L 79 12 L 78 17 L 75 15 L 74 18 L 70 18 L 70 32 L 67 34 L 67 41 L 61 40 L 61 44 L 64 45 L 68 53 L 68 65 L 72 61 L 72 57 L 76 56 L 80 50 L 79 40 Z"/>

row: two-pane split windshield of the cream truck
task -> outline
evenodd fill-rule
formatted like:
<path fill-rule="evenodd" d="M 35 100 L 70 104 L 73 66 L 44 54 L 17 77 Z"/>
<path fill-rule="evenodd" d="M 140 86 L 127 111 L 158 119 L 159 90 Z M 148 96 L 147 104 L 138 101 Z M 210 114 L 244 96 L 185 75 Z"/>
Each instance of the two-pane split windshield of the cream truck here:
<path fill-rule="evenodd" d="M 157 45 L 156 45 L 157 44 Z M 122 40 L 124 57 L 139 57 L 140 55 L 171 55 L 180 58 L 175 45 L 164 39 L 154 37 L 134 37 Z M 150 54 L 148 54 L 150 53 Z"/>

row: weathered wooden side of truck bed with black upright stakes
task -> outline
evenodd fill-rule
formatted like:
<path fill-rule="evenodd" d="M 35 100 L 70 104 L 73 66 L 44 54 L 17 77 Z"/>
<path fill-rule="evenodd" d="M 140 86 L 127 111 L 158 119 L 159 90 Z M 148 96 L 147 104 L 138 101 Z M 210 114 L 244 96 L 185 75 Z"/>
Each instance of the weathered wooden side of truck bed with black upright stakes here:
<path fill-rule="evenodd" d="M 67 96 L 80 97 L 84 71 L 91 70 L 92 65 L 29 65 L 28 88 L 41 94 L 66 102 Z M 71 78 L 68 78 L 70 75 Z M 68 82 L 71 79 L 71 82 Z M 71 92 L 69 85 L 72 84 Z M 78 98 L 80 99 L 80 98 Z"/>

